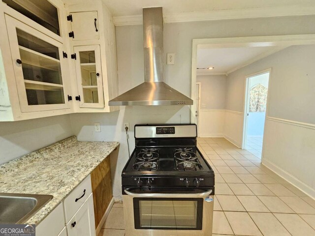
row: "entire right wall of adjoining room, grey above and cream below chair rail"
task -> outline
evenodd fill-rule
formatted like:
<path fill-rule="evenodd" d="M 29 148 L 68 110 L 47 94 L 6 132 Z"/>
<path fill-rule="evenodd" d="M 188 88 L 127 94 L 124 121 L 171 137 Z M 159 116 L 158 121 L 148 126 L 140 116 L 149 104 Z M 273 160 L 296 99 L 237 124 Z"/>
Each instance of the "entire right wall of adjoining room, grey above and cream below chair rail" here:
<path fill-rule="evenodd" d="M 262 163 L 315 197 L 315 45 L 291 46 L 227 76 L 226 107 L 243 112 L 246 76 L 272 68 Z M 241 116 L 240 116 L 241 117 Z M 232 120 L 235 122 L 235 119 Z M 302 122 L 302 123 L 301 123 Z M 225 120 L 225 126 L 228 121 Z M 239 124 L 227 128 L 242 140 Z"/>

